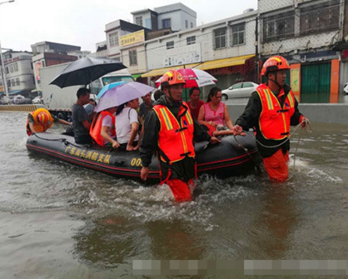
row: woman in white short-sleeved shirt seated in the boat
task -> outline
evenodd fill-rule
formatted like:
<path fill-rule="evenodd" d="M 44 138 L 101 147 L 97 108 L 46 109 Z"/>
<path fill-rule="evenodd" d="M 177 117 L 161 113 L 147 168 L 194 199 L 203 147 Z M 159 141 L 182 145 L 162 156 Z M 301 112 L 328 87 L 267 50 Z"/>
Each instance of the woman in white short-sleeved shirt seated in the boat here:
<path fill-rule="evenodd" d="M 136 98 L 120 105 L 116 111 L 116 135 L 121 149 L 139 149 L 141 135 L 138 134 L 138 108 L 139 98 Z"/>

